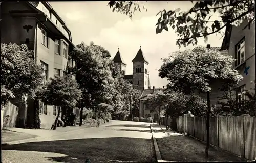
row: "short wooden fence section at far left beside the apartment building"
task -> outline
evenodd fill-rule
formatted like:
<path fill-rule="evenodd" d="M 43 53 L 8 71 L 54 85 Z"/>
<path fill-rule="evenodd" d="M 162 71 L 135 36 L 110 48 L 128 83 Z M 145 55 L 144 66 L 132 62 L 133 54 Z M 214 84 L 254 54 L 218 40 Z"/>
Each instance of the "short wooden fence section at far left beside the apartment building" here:
<path fill-rule="evenodd" d="M 16 127 L 18 107 L 9 102 L 4 106 L 3 127 Z"/>

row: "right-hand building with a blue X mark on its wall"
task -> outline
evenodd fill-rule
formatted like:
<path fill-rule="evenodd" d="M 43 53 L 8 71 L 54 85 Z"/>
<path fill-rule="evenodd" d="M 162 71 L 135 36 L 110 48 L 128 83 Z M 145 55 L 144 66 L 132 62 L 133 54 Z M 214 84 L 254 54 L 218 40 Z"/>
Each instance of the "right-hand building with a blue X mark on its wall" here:
<path fill-rule="evenodd" d="M 228 50 L 228 55 L 236 61 L 233 68 L 243 76 L 236 91 L 236 98 L 241 104 L 246 99 L 245 90 L 255 93 L 255 23 L 248 26 L 244 20 L 239 26 L 229 25 L 225 31 L 221 50 Z"/>

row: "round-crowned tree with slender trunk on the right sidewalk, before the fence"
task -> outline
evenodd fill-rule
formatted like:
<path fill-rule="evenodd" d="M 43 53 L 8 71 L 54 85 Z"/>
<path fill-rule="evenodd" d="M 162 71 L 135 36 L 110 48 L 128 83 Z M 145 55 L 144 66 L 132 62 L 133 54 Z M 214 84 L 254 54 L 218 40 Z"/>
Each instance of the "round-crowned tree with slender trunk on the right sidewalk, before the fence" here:
<path fill-rule="evenodd" d="M 195 90 L 207 93 L 207 145 L 205 156 L 208 157 L 209 149 L 209 116 L 211 86 L 215 82 L 225 85 L 236 85 L 242 79 L 237 70 L 232 68 L 234 59 L 222 55 L 218 51 L 209 50 L 198 46 L 191 51 L 177 51 L 167 59 L 159 70 L 161 78 L 167 78 L 167 88 L 186 94 Z"/>

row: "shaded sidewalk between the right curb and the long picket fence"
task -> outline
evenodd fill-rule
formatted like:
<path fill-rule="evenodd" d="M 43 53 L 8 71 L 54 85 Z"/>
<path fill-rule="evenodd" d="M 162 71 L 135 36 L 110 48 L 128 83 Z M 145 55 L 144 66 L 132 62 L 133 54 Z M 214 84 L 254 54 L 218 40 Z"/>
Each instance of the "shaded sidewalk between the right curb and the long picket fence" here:
<path fill-rule="evenodd" d="M 221 149 L 209 147 L 209 157 L 205 158 L 205 144 L 180 133 L 166 130 L 164 125 L 152 125 L 161 157 L 166 161 L 207 162 L 241 161 L 241 158 Z"/>

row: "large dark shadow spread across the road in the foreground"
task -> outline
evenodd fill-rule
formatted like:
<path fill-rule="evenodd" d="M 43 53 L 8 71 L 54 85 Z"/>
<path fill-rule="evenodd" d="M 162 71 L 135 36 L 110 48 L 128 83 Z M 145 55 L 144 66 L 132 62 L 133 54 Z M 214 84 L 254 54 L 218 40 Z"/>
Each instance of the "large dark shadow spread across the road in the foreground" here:
<path fill-rule="evenodd" d="M 2 145 L 2 158 L 7 159 L 3 150 L 53 152 L 66 155 L 46 158 L 56 162 L 75 163 L 84 162 L 86 159 L 90 159 L 91 162 L 156 161 L 152 140 L 141 138 L 74 139 Z"/>

